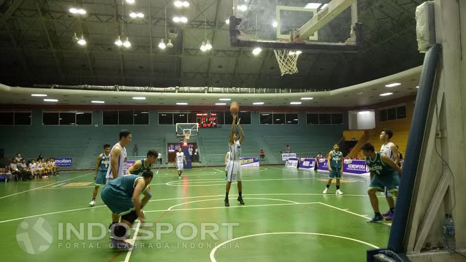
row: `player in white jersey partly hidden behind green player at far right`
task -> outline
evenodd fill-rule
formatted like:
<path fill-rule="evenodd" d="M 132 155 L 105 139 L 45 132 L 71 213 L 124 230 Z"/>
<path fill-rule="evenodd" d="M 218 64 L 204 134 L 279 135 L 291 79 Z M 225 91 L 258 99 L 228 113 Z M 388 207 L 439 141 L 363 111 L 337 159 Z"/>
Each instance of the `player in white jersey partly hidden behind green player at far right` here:
<path fill-rule="evenodd" d="M 399 154 L 398 154 L 398 147 L 390 142 L 390 139 L 393 137 L 393 131 L 390 129 L 384 129 L 379 136 L 379 139 L 382 141 L 383 145 L 380 147 L 380 151 L 385 153 L 395 164 L 399 164 Z M 391 221 L 393 219 L 393 212 L 395 211 L 395 201 L 393 200 L 392 193 L 388 192 L 388 189 L 385 188 L 385 198 L 387 199 L 388 210 L 386 213 L 382 215 L 385 217 L 385 220 Z"/>

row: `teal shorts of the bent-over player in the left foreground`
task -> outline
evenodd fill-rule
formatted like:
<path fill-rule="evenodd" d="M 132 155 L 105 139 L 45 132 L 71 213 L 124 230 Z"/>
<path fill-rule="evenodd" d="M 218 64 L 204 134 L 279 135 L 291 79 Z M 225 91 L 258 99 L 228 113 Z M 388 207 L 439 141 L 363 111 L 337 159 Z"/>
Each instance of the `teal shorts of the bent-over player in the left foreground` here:
<path fill-rule="evenodd" d="M 116 190 L 112 185 L 104 187 L 100 197 L 114 214 L 124 215 L 135 210 L 131 197 L 128 197 L 120 190 Z"/>

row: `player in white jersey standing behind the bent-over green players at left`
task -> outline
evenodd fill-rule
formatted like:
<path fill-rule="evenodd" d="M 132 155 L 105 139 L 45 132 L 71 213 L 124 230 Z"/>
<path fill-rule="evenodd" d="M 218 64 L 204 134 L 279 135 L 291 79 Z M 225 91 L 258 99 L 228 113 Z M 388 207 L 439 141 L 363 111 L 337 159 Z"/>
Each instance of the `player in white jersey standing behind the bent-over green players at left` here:
<path fill-rule="evenodd" d="M 131 143 L 131 132 L 123 129 L 119 133 L 119 141 L 112 147 L 110 150 L 110 166 L 108 167 L 107 174 L 105 178 L 107 179 L 107 184 L 112 180 L 126 175 L 126 163 L 128 161 L 126 154 L 126 146 Z M 112 214 L 112 221 L 114 223 L 119 222 L 119 215 Z"/>

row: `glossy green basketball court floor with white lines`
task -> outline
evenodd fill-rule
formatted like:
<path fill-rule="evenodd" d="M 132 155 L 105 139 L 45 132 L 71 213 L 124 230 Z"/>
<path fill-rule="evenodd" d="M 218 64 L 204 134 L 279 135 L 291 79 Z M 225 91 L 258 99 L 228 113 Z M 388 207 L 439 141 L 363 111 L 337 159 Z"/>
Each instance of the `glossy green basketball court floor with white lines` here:
<path fill-rule="evenodd" d="M 366 223 L 373 215 L 368 177 L 344 176 L 344 195 L 337 196 L 334 183 L 330 194 L 322 194 L 325 173 L 282 166 L 242 170 L 246 205 L 236 201 L 232 184 L 226 208 L 224 168 L 186 170 L 180 180 L 174 169 L 153 169 L 152 198 L 145 207 L 146 222 L 153 226 L 136 221 L 131 251 L 109 247 L 110 211 L 100 194 L 96 207 L 88 207 L 92 172 L 0 183 L 3 261 L 361 262 L 367 249 L 386 246 L 390 224 Z M 384 212 L 387 204 L 379 200 Z M 39 229 L 33 226 L 38 221 Z M 38 233 L 44 230 L 50 237 Z M 33 254 L 22 249 L 25 235 Z"/>

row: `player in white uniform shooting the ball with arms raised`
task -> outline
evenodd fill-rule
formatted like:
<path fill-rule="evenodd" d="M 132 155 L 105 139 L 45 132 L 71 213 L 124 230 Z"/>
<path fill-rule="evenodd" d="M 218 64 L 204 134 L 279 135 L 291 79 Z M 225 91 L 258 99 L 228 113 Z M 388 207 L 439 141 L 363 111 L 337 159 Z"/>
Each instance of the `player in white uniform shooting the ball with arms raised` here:
<path fill-rule="evenodd" d="M 233 114 L 232 114 L 233 115 Z M 236 180 L 238 182 L 238 201 L 241 205 L 244 205 L 243 197 L 241 196 L 243 185 L 242 185 L 242 176 L 241 176 L 241 166 L 239 163 L 239 158 L 241 156 L 241 143 L 244 140 L 244 132 L 241 128 L 240 122 L 241 118 L 238 119 L 238 129 L 241 132 L 241 137 L 238 139 L 238 133 L 234 130 L 234 126 L 236 123 L 237 115 L 233 115 L 233 123 L 232 123 L 232 132 L 230 134 L 230 141 L 228 143 L 230 147 L 230 164 L 228 164 L 228 171 L 227 171 L 227 185 L 225 188 L 225 206 L 229 207 L 230 202 L 228 200 L 228 193 L 230 193 L 230 186 L 232 185 L 232 180 Z"/>

